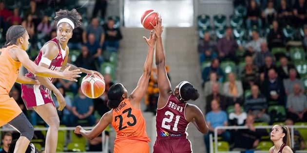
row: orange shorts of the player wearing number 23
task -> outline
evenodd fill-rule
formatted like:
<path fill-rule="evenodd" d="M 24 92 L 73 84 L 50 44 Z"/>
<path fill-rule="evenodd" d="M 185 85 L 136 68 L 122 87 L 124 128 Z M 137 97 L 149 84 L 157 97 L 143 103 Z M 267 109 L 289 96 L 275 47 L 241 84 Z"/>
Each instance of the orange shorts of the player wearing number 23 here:
<path fill-rule="evenodd" d="M 149 153 L 149 145 L 145 141 L 122 140 L 115 143 L 114 153 Z"/>

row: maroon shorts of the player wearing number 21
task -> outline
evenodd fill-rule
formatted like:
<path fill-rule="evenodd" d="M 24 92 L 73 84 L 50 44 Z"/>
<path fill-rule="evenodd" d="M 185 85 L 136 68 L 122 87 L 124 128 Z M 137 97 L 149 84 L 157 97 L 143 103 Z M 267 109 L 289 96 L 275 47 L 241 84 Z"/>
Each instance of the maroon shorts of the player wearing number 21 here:
<path fill-rule="evenodd" d="M 157 138 L 153 146 L 153 153 L 192 153 L 192 144 L 185 137 Z"/>

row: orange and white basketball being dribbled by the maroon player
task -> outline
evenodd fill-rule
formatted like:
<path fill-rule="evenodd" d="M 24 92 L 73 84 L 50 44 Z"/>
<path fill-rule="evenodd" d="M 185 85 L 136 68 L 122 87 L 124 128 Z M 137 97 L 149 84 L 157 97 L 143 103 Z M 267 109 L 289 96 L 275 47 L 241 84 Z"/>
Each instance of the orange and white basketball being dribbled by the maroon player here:
<path fill-rule="evenodd" d="M 98 98 L 106 88 L 104 80 L 95 74 L 95 77 L 88 74 L 82 79 L 81 91 L 88 98 Z"/>

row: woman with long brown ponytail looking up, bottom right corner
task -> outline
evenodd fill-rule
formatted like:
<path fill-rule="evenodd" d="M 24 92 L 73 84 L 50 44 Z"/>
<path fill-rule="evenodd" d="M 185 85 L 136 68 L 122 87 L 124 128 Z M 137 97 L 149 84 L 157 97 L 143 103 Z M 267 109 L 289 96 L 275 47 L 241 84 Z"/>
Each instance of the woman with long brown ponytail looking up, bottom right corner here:
<path fill-rule="evenodd" d="M 290 148 L 290 132 L 287 126 L 282 124 L 274 125 L 270 139 L 273 141 L 274 146 L 269 149 L 269 153 L 293 153 Z"/>

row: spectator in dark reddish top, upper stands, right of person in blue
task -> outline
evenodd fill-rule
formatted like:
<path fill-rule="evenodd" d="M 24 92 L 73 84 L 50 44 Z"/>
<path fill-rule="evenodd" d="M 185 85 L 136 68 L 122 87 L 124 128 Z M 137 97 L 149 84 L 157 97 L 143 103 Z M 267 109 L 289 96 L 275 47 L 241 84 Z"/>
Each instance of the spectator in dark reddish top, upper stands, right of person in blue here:
<path fill-rule="evenodd" d="M 220 60 L 224 60 L 226 58 L 239 62 L 237 56 L 235 55 L 236 49 L 238 49 L 238 44 L 232 36 L 232 29 L 228 27 L 226 29 L 225 37 L 218 40 L 217 43 L 217 51 L 218 57 Z M 240 49 L 242 50 L 241 46 Z"/>

